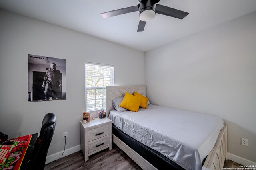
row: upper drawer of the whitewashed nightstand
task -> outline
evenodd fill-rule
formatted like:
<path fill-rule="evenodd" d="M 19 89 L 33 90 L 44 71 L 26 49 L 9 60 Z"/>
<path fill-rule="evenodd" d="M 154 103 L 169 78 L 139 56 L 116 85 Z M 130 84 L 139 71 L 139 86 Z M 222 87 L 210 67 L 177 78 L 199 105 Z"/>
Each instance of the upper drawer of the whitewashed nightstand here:
<path fill-rule="evenodd" d="M 88 131 L 88 141 L 104 137 L 109 134 L 109 125 L 91 129 Z"/>

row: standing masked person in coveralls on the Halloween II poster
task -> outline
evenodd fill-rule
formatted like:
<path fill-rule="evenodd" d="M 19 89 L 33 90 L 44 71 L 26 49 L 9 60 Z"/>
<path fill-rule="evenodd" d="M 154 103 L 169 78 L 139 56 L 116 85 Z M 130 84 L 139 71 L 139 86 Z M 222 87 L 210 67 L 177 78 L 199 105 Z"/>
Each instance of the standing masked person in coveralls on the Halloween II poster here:
<path fill-rule="evenodd" d="M 44 76 L 43 88 L 44 95 L 47 100 L 56 100 L 57 93 L 62 86 L 62 74 L 56 70 L 56 64 L 51 64 L 51 69 L 48 70 Z"/>

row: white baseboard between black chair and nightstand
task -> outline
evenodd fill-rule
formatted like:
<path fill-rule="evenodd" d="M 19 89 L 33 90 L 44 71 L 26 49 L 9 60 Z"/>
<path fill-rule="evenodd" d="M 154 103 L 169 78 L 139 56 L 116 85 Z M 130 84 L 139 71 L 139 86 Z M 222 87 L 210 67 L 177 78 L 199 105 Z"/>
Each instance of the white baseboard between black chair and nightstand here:
<path fill-rule="evenodd" d="M 72 147 L 72 148 L 69 148 L 69 149 L 66 149 L 64 154 L 63 154 L 63 157 L 64 156 L 68 156 L 74 152 L 78 152 L 79 150 L 81 150 L 81 146 L 80 145 L 77 145 L 75 147 Z M 46 161 L 45 161 L 45 164 L 48 164 L 50 162 L 53 162 L 54 160 L 57 160 L 59 158 L 61 158 L 62 156 L 62 153 L 63 153 L 64 150 L 60 151 L 60 152 L 57 152 L 55 154 L 52 154 L 52 155 L 49 155 L 46 157 Z"/>

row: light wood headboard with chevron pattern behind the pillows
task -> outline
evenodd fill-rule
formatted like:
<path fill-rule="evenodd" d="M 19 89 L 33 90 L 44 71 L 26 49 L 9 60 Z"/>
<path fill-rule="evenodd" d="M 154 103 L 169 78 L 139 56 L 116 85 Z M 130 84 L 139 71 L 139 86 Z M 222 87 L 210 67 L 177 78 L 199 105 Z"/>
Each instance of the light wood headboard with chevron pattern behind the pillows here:
<path fill-rule="evenodd" d="M 112 100 L 124 97 L 126 92 L 133 94 L 135 91 L 146 95 L 146 86 L 106 86 L 106 116 L 108 117 L 110 110 L 115 109 Z"/>

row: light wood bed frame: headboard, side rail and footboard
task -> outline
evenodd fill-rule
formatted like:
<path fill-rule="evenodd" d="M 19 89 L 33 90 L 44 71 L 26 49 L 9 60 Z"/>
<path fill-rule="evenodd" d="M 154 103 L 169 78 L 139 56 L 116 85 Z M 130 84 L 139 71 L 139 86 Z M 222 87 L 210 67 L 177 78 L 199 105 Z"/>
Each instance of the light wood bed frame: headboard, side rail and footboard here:
<path fill-rule="evenodd" d="M 110 110 L 114 109 L 112 100 L 123 97 L 126 92 L 133 94 L 134 91 L 146 95 L 146 86 L 107 86 L 106 87 L 106 115 L 108 117 Z M 156 170 L 156 168 L 140 156 L 137 152 L 131 149 L 123 141 L 113 135 L 113 142 L 120 149 L 122 149 L 134 162 L 136 162 L 144 170 Z M 224 125 L 223 129 L 218 135 L 218 139 L 214 148 L 208 154 L 202 170 L 221 170 L 227 160 L 227 126 Z"/>

